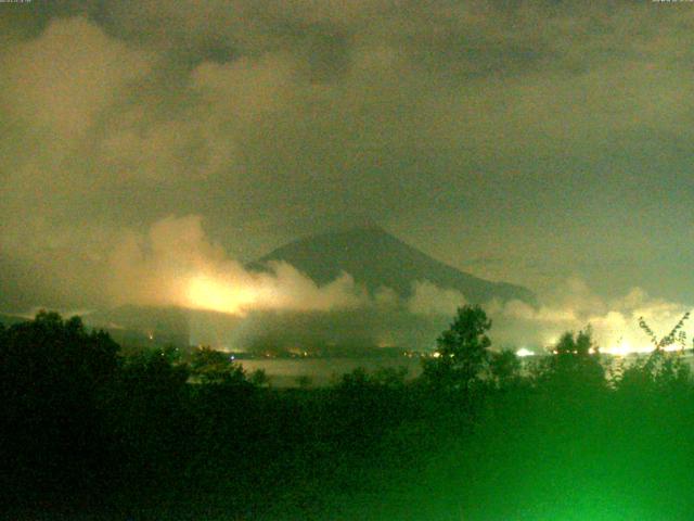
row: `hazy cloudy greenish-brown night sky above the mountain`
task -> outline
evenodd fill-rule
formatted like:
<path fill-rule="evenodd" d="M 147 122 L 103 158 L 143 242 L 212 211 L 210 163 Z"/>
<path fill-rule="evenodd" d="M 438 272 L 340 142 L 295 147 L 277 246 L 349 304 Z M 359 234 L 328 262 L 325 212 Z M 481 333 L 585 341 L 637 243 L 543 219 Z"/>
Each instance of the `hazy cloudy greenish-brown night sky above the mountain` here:
<path fill-rule="evenodd" d="M 693 40 L 687 2 L 1 3 L 0 306 L 149 303 L 182 251 L 239 280 L 369 219 L 541 320 L 670 320 Z"/>

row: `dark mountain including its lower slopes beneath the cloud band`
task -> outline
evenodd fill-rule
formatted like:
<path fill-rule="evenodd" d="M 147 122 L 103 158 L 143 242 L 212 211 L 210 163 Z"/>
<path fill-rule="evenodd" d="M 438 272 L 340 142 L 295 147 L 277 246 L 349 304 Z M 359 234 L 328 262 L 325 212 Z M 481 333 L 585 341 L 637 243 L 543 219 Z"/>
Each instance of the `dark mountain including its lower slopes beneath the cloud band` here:
<path fill-rule="evenodd" d="M 536 303 L 535 294 L 526 288 L 460 271 L 374 225 L 298 239 L 246 268 L 269 271 L 272 262 L 292 265 L 318 285 L 346 272 L 372 294 L 389 288 L 403 301 L 413 295 L 417 281 L 428 281 L 442 290 L 459 291 L 468 303 L 484 305 L 492 298 Z M 239 317 L 203 309 L 127 305 L 86 317 L 87 323 L 105 327 L 116 340 L 133 345 L 209 344 L 250 352 L 300 345 L 310 352 L 332 354 L 356 354 L 384 345 L 427 348 L 448 319 L 444 315 L 412 313 L 408 306 L 255 310 Z"/>

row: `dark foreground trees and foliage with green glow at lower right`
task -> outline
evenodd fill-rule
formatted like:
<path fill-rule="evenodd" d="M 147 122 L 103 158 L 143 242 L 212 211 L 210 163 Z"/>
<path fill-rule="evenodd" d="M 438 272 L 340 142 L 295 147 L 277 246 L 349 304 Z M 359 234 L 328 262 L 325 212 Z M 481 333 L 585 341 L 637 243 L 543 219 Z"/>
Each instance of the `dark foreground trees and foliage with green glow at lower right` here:
<path fill-rule="evenodd" d="M 422 378 L 277 390 L 221 353 L 123 357 L 78 318 L 0 327 L 10 519 L 689 520 L 681 354 L 613 368 L 590 331 L 522 367 L 461 308 Z"/>

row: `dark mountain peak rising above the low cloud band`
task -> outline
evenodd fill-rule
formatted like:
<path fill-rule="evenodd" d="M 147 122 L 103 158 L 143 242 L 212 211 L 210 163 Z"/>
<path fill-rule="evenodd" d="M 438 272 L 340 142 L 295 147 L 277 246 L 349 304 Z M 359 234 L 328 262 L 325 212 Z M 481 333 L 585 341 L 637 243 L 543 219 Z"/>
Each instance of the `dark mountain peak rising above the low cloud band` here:
<path fill-rule="evenodd" d="M 248 264 L 247 268 L 267 270 L 271 262 L 285 262 L 319 285 L 347 272 L 370 292 L 385 287 L 406 298 L 413 294 L 415 282 L 428 281 L 441 289 L 460 291 L 473 304 L 484 304 L 492 298 L 536 303 L 536 295 L 524 287 L 492 282 L 460 271 L 376 225 L 290 242 Z"/>

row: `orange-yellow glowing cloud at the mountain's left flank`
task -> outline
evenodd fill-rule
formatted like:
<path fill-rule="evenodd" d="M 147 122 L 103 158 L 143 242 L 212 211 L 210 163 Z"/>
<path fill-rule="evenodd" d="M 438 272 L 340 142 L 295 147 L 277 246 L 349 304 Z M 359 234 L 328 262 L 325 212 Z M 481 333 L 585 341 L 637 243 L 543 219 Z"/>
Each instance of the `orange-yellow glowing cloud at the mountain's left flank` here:
<path fill-rule="evenodd" d="M 210 243 L 200 216 L 167 217 L 146 236 L 128 234 L 111 256 L 117 304 L 179 306 L 230 315 L 255 310 L 329 312 L 369 304 L 347 274 L 322 287 L 284 263 L 247 271 Z"/>

